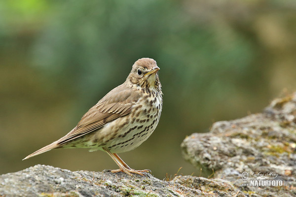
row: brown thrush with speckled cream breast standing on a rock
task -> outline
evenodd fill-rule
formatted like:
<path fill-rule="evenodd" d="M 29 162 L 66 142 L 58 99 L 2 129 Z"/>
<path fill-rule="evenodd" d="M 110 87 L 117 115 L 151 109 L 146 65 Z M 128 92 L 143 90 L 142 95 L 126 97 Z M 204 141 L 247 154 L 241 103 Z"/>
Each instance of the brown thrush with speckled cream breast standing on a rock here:
<path fill-rule="evenodd" d="M 104 151 L 112 158 L 119 166 L 111 170 L 113 173 L 149 172 L 132 169 L 118 153 L 140 146 L 159 122 L 163 102 L 159 69 L 153 59 L 137 60 L 125 82 L 91 107 L 72 131 L 23 160 L 52 149 L 89 148 L 89 151 Z"/>

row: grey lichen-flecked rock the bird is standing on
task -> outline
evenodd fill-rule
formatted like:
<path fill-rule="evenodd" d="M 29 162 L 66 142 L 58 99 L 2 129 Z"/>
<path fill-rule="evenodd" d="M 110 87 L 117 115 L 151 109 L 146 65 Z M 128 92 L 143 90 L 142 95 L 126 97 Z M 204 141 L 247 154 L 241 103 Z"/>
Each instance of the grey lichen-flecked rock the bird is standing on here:
<path fill-rule="evenodd" d="M 159 180 L 125 173 L 75 171 L 35 165 L 0 176 L 0 197 L 232 197 L 240 191 L 223 180 L 178 176 Z M 219 191 L 216 191 L 219 188 Z"/>

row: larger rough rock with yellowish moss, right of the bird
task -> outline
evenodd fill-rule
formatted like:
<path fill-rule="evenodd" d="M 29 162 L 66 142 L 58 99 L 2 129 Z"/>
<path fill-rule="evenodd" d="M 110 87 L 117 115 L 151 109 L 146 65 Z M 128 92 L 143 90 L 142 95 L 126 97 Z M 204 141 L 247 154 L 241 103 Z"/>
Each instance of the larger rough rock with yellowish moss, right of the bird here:
<path fill-rule="evenodd" d="M 193 133 L 181 147 L 191 164 L 213 169 L 215 177 L 229 181 L 247 196 L 294 197 L 296 93 L 273 100 L 263 113 L 214 123 L 209 133 Z M 242 179 L 247 178 L 243 172 L 248 173 L 247 180 Z M 283 185 L 251 186 L 255 179 L 282 181 Z"/>

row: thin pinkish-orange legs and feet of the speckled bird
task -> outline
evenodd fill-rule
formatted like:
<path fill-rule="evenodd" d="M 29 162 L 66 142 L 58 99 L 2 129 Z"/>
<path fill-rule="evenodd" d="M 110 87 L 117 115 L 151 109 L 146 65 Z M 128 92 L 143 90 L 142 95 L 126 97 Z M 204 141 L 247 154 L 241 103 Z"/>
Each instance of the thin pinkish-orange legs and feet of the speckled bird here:
<path fill-rule="evenodd" d="M 125 162 L 123 162 L 123 160 L 116 153 L 111 153 L 107 149 L 104 149 L 104 150 L 106 151 L 106 153 L 108 153 L 108 155 L 112 158 L 112 160 L 119 166 L 119 169 L 111 170 L 112 173 L 125 172 L 129 175 L 132 175 L 131 173 L 136 173 L 136 174 L 140 174 L 141 176 L 143 176 L 144 174 L 142 172 L 150 172 L 150 170 L 148 170 L 148 169 L 144 169 L 144 170 L 132 169 L 127 164 L 125 164 Z"/>

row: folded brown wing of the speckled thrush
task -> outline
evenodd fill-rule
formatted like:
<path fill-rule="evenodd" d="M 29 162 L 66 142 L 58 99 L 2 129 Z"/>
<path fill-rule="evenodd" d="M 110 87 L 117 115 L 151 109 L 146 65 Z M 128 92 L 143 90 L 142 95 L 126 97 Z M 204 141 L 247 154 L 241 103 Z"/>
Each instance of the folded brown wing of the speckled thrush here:
<path fill-rule="evenodd" d="M 58 140 L 58 144 L 61 145 L 92 131 L 97 131 L 106 123 L 129 114 L 138 99 L 139 95 L 132 89 L 124 88 L 124 84 L 114 88 L 90 108 L 77 126 Z"/>

